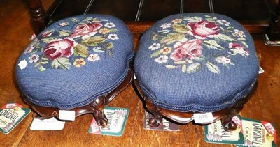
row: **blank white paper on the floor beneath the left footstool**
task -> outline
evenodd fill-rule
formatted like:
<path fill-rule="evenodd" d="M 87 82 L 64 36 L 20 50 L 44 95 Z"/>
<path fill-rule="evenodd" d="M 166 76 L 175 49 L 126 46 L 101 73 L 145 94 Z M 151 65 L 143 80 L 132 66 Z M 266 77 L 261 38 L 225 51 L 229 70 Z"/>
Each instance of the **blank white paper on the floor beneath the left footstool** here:
<path fill-rule="evenodd" d="M 34 118 L 30 130 L 62 130 L 64 121 L 58 121 L 56 118 L 43 119 Z"/>

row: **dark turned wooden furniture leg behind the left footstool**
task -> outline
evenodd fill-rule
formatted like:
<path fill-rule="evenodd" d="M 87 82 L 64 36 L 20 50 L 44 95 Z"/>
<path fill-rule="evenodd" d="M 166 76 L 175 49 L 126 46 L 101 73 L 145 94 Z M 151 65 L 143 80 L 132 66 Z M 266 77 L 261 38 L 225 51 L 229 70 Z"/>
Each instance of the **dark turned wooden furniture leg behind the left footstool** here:
<path fill-rule="evenodd" d="M 36 35 L 46 27 L 47 16 L 41 0 L 27 0 L 29 13 L 31 15 L 31 26 Z"/>

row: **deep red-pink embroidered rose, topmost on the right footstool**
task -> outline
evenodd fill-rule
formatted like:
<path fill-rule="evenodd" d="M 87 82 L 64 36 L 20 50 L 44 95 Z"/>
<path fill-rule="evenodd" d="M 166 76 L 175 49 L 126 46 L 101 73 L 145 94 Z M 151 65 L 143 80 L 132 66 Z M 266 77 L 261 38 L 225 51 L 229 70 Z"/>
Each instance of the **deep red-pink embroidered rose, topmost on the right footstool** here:
<path fill-rule="evenodd" d="M 191 22 L 188 24 L 188 33 L 199 39 L 205 39 L 207 37 L 213 38 L 219 34 L 219 28 L 213 22 Z"/>

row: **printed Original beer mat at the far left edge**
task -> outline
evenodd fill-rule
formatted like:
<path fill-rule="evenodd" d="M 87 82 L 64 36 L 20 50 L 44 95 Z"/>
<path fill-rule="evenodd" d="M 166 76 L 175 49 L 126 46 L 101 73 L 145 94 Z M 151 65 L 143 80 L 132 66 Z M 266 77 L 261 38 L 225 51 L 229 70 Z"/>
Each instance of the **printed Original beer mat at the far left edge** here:
<path fill-rule="evenodd" d="M 18 105 L 17 103 L 11 102 L 4 105 L 0 109 L 0 132 L 8 134 L 29 113 L 30 109 Z"/>

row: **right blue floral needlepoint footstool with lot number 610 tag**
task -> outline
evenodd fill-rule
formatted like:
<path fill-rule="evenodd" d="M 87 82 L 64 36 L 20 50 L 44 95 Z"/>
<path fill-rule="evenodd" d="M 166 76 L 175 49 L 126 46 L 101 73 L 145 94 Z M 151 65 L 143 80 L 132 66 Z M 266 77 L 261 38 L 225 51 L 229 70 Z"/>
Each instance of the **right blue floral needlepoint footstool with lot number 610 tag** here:
<path fill-rule="evenodd" d="M 187 13 L 165 17 L 143 34 L 134 82 L 153 114 L 150 125 L 162 116 L 177 123 L 198 116 L 210 118 L 197 120 L 202 124 L 221 119 L 230 130 L 258 69 L 253 39 L 241 24 L 224 15 Z"/>

